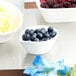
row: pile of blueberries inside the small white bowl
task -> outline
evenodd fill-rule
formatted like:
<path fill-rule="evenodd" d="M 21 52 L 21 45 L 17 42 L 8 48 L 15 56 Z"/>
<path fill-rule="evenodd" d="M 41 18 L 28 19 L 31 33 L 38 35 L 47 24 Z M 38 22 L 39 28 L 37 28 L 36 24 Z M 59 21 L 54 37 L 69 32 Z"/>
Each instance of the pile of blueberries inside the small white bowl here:
<path fill-rule="evenodd" d="M 48 27 L 40 29 L 26 29 L 25 33 L 22 35 L 24 41 L 46 41 L 56 36 L 57 32 L 52 28 Z"/>

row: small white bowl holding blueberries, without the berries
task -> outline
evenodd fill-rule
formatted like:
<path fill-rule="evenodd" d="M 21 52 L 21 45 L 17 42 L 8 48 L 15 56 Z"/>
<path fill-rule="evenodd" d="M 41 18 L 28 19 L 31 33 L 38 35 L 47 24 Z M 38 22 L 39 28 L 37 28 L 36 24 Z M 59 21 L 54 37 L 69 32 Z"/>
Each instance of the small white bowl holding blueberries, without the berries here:
<path fill-rule="evenodd" d="M 51 51 L 51 49 L 53 48 L 53 45 L 54 45 L 54 43 L 57 39 L 57 36 L 58 36 L 58 31 L 56 29 L 54 29 L 54 30 L 57 32 L 57 35 L 54 38 L 47 40 L 47 41 L 34 42 L 34 41 L 22 40 L 22 35 L 24 34 L 26 29 L 34 29 L 35 30 L 35 29 L 38 29 L 41 27 L 47 29 L 49 26 L 43 26 L 43 25 L 29 26 L 29 27 L 26 27 L 20 35 L 19 40 L 22 43 L 25 51 L 29 54 L 45 54 L 45 53 Z"/>

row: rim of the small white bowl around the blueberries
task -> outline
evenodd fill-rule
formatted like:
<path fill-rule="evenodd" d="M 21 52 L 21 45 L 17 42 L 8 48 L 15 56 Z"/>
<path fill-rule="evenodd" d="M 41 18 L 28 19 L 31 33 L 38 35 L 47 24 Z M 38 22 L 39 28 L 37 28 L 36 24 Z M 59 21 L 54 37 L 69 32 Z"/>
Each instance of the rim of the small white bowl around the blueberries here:
<path fill-rule="evenodd" d="M 35 27 L 35 28 L 34 28 Z M 58 37 L 58 35 L 59 35 L 59 31 L 56 29 L 56 28 L 54 28 L 53 27 L 53 29 L 57 32 L 57 34 L 56 34 L 56 36 L 54 37 L 54 38 L 52 38 L 52 39 L 49 39 L 49 40 L 46 40 L 46 41 L 40 41 L 40 42 L 36 42 L 36 41 L 24 41 L 24 40 L 22 40 L 22 35 L 24 34 L 24 32 L 25 32 L 25 30 L 26 29 L 32 29 L 32 28 L 34 28 L 34 29 L 38 29 L 38 28 L 48 28 L 48 27 L 51 27 L 51 26 L 46 26 L 46 25 L 33 25 L 33 26 L 26 26 L 25 27 L 25 29 L 22 31 L 22 33 L 20 34 L 20 37 L 19 37 L 19 41 L 20 42 L 22 42 L 22 43 L 46 43 L 46 42 L 49 42 L 49 41 L 51 41 L 51 40 L 53 40 L 53 39 L 55 39 L 55 38 L 57 38 Z"/>

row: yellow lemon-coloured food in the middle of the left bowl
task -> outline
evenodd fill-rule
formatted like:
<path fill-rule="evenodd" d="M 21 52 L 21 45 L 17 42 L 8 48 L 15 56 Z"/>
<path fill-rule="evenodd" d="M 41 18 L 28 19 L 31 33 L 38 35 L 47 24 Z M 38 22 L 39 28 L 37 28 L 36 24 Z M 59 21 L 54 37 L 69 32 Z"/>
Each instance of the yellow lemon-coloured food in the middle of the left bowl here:
<path fill-rule="evenodd" d="M 8 32 L 11 27 L 11 18 L 4 13 L 0 14 L 0 32 Z"/>

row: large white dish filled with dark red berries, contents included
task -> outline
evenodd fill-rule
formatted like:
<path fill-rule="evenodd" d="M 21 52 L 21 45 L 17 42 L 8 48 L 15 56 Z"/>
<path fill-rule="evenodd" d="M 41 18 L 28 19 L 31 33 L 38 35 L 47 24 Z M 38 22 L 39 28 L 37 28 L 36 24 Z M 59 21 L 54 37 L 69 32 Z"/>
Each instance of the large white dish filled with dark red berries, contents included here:
<path fill-rule="evenodd" d="M 76 0 L 36 0 L 36 5 L 48 23 L 76 22 Z"/>

